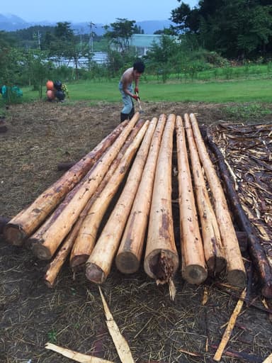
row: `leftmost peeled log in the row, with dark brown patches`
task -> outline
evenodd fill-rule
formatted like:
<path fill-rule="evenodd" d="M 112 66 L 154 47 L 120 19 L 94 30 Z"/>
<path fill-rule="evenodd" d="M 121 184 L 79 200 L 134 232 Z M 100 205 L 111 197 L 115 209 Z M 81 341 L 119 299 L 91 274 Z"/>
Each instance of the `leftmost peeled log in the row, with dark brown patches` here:
<path fill-rule="evenodd" d="M 23 245 L 23 241 L 37 230 L 64 196 L 86 175 L 103 152 L 118 138 L 127 124 L 128 121 L 124 121 L 118 125 L 94 150 L 79 160 L 77 164 L 74 164 L 60 179 L 40 194 L 30 206 L 13 217 L 4 230 L 6 241 L 12 245 Z"/>

